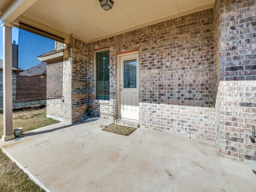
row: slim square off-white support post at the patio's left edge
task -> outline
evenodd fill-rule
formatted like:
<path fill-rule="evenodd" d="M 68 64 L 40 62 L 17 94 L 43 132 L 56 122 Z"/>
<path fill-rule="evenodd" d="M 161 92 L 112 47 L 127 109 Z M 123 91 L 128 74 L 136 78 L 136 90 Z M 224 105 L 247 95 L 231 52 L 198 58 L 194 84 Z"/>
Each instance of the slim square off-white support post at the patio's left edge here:
<path fill-rule="evenodd" d="M 4 135 L 2 140 L 14 138 L 12 130 L 12 24 L 2 22 L 3 27 L 3 101 Z"/>

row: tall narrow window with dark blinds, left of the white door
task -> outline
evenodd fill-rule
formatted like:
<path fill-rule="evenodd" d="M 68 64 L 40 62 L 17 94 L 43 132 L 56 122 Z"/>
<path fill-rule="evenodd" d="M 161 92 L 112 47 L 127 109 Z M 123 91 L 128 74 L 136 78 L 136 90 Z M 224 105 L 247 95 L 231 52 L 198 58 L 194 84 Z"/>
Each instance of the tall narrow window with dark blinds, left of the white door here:
<path fill-rule="evenodd" d="M 109 100 L 109 50 L 96 52 L 96 99 Z"/>

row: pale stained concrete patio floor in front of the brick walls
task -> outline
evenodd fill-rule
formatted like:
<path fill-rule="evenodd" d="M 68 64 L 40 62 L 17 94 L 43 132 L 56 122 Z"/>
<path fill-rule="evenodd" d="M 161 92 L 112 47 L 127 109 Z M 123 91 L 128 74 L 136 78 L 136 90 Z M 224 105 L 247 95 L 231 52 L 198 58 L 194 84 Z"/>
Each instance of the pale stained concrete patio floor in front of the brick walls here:
<path fill-rule="evenodd" d="M 218 158 L 213 142 L 138 128 L 102 131 L 112 121 L 58 123 L 0 141 L 2 150 L 50 192 L 255 192 L 246 164 Z"/>

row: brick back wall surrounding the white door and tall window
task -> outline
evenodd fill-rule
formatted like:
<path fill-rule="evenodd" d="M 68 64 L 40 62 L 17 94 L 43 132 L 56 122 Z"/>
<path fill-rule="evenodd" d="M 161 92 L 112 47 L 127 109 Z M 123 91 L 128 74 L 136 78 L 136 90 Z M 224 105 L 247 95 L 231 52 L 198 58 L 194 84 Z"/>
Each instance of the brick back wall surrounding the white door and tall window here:
<path fill-rule="evenodd" d="M 116 53 L 139 50 L 140 125 L 214 140 L 213 21 L 209 9 L 88 44 L 89 114 L 116 117 Z M 107 46 L 109 103 L 94 99 L 94 50 Z"/>

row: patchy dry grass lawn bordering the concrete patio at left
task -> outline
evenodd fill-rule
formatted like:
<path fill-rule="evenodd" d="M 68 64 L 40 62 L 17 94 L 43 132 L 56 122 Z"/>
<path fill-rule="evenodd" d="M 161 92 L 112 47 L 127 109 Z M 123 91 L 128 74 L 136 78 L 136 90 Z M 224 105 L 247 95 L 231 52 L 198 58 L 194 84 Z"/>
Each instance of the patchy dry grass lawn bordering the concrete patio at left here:
<path fill-rule="evenodd" d="M 14 112 L 13 128 L 23 127 L 24 131 L 33 130 L 59 121 L 46 118 L 46 109 Z M 0 136 L 3 134 L 3 114 L 0 114 Z M 42 192 L 27 174 L 0 150 L 0 191 L 1 192 Z"/>

